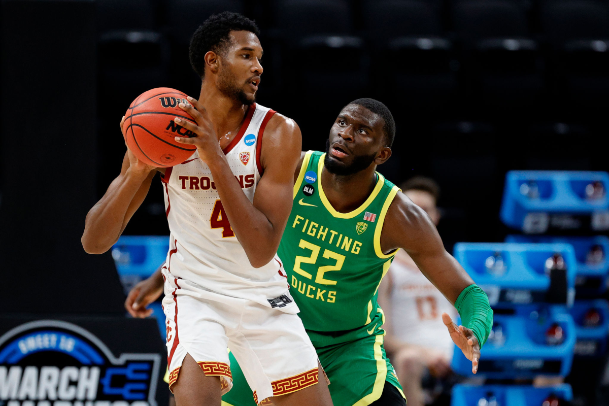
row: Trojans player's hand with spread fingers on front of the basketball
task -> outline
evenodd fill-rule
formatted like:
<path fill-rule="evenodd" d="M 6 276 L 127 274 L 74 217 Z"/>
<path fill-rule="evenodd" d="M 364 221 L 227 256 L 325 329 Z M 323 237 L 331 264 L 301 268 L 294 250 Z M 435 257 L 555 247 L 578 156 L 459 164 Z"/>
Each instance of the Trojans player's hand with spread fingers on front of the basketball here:
<path fill-rule="evenodd" d="M 181 127 L 186 128 L 186 130 L 192 131 L 195 136 L 175 137 L 175 141 L 180 142 L 181 144 L 195 145 L 199 151 L 199 158 L 204 162 L 209 162 L 210 159 L 221 156 L 219 154 L 222 154 L 216 130 L 214 130 L 211 121 L 209 121 L 209 116 L 205 107 L 193 97 L 188 96 L 188 101 L 190 103 L 179 103 L 178 106 L 186 111 L 186 113 L 190 114 L 197 124 L 193 124 L 192 122 L 179 117 L 175 117 L 174 121 L 176 124 L 181 125 Z"/>

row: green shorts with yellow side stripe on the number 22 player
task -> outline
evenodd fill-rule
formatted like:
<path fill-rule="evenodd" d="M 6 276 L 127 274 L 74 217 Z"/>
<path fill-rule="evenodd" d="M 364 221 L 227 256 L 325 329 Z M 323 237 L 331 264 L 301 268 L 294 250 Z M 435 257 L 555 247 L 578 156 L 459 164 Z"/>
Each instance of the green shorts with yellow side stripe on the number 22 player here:
<path fill-rule="evenodd" d="M 374 334 L 376 333 L 376 334 Z M 317 356 L 328 375 L 328 386 L 334 406 L 367 406 L 381 397 L 385 381 L 392 383 L 402 396 L 398 377 L 382 346 L 384 332 L 378 328 L 374 335 L 356 340 L 329 337 L 308 331 Z M 354 337 L 353 334 L 349 336 Z M 328 344 L 328 342 L 331 342 Z M 230 354 L 233 388 L 222 396 L 222 406 L 255 406 L 252 390 L 247 385 L 238 363 Z"/>

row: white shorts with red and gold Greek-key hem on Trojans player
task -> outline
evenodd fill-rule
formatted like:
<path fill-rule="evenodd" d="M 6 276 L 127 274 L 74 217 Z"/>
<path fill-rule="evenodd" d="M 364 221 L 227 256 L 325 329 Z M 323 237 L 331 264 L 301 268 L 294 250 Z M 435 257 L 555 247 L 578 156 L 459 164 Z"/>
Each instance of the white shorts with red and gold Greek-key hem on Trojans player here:
<path fill-rule="evenodd" d="M 297 315 L 209 292 L 166 269 L 163 276 L 170 389 L 190 354 L 227 393 L 233 386 L 227 347 L 256 403 L 317 383 L 317 353 Z"/>

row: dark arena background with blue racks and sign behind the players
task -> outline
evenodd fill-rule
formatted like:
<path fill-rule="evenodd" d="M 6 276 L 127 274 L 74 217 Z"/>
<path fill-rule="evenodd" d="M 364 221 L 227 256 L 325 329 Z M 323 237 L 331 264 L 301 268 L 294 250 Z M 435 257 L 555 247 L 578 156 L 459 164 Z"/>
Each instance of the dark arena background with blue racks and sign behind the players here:
<path fill-rule="evenodd" d="M 303 150 L 371 97 L 397 128 L 379 172 L 439 184 L 440 236 L 499 327 L 476 380 L 456 352 L 429 402 L 609 404 L 609 1 L 2 0 L 0 406 L 167 404 L 160 302 L 157 320 L 123 307 L 167 251 L 158 177 L 111 252 L 80 236 L 118 175 L 129 103 L 197 97 L 189 38 L 225 10 L 260 27 L 257 102 L 298 123 Z"/>

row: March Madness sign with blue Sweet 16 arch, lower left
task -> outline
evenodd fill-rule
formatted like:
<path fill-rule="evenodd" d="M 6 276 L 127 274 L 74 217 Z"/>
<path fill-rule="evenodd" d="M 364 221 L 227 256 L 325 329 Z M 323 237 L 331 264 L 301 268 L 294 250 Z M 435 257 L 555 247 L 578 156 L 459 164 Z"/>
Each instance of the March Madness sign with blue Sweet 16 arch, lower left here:
<path fill-rule="evenodd" d="M 118 323 L 125 321 L 133 319 Z M 120 325 L 112 328 L 108 320 L 103 324 L 107 326 L 102 329 L 110 327 L 116 334 L 143 333 Z M 117 340 L 132 347 L 128 340 Z M 165 368 L 161 353 L 116 354 L 114 349 L 65 320 L 19 324 L 0 335 L 0 406 L 160 406 L 157 387 Z"/>

